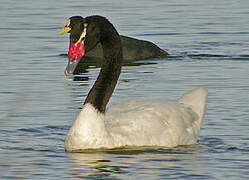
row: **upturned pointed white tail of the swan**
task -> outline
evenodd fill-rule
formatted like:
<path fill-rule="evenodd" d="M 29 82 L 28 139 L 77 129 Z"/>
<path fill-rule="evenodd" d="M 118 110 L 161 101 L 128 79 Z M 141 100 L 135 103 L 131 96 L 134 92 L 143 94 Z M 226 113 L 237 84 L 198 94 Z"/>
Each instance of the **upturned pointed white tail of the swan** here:
<path fill-rule="evenodd" d="M 179 103 L 184 104 L 186 107 L 190 107 L 198 114 L 198 122 L 200 124 L 202 123 L 206 109 L 207 94 L 208 92 L 206 89 L 197 88 L 187 92 L 178 100 Z"/>

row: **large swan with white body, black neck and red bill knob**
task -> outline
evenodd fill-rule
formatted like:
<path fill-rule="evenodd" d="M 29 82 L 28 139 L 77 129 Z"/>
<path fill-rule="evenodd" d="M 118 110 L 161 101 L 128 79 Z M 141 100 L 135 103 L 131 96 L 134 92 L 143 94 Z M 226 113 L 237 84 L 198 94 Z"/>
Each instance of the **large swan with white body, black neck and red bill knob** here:
<path fill-rule="evenodd" d="M 105 112 L 121 72 L 122 45 L 118 32 L 101 16 L 71 17 L 61 31 L 70 33 L 66 75 L 72 74 L 84 53 L 99 42 L 104 53 L 99 76 L 67 134 L 66 151 L 197 143 L 206 89 L 194 89 L 176 102 L 133 100 Z"/>

